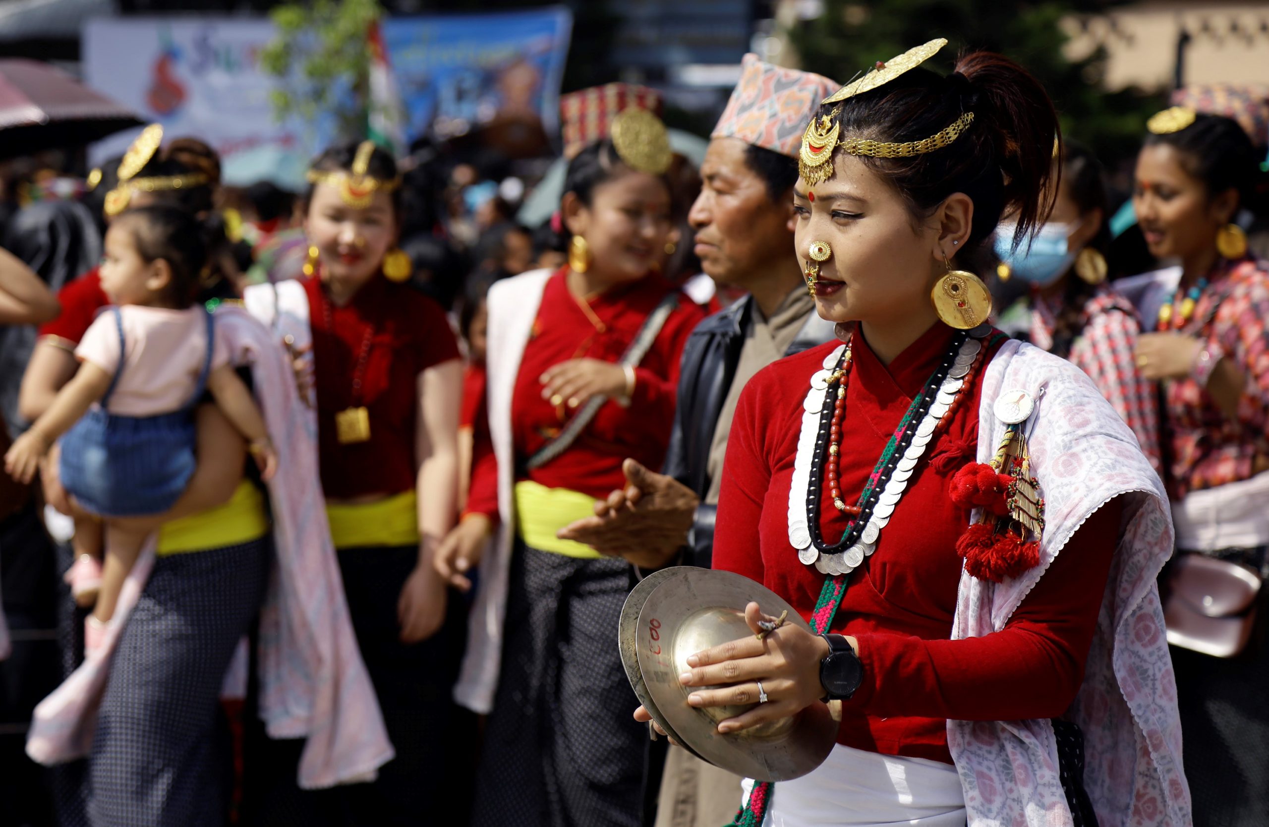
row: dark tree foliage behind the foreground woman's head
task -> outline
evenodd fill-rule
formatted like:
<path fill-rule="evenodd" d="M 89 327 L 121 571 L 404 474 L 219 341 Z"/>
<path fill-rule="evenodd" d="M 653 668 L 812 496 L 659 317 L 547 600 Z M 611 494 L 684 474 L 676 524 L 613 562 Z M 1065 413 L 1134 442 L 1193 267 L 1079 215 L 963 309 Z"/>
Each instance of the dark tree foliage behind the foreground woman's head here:
<path fill-rule="evenodd" d="M 1044 84 L 1063 134 L 1093 147 L 1114 167 L 1136 155 L 1146 118 L 1162 99 L 1136 89 L 1103 90 L 1101 51 L 1074 62 L 1062 53 L 1067 36 L 1060 20 L 1107 5 L 1104 0 L 825 0 L 824 15 L 798 24 L 791 36 L 803 68 L 841 82 L 935 37 L 948 39 L 931 61 L 937 71 L 948 71 L 961 51 L 1006 55 Z"/>

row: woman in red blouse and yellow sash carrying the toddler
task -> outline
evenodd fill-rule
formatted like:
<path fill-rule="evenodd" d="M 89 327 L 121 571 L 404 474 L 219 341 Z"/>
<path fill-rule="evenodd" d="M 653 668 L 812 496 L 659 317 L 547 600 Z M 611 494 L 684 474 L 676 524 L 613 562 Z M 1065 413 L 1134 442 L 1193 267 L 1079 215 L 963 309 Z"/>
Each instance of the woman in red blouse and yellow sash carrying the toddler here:
<path fill-rule="evenodd" d="M 123 181 L 115 174 L 121 165 L 109 165 L 100 184 L 110 193 L 107 218 L 154 204 L 207 218 L 218 184 L 214 153 L 190 138 L 156 143 L 152 157 L 129 152 L 140 155 L 141 166 Z M 214 218 L 207 230 L 213 233 Z M 207 282 L 201 299 L 232 294 L 228 279 Z M 58 298 L 62 313 L 39 329 L 23 375 L 19 406 L 30 420 L 74 375 L 75 346 L 109 304 L 95 268 Z M 265 495 L 245 468 L 242 436 L 214 405 L 197 407 L 195 425 L 198 466 L 188 487 L 169 512 L 133 521 L 136 530 L 157 533 L 156 561 L 110 661 L 85 795 L 63 804 L 74 813 L 86 802 L 93 823 L 195 824 L 228 817 L 221 770 L 230 756 L 212 733 L 221 723 L 226 670 L 264 600 L 272 543 Z M 51 453 L 41 471 L 46 497 L 70 512 L 57 468 Z M 74 575 L 91 568 L 91 558 L 79 558 L 72 587 Z"/>

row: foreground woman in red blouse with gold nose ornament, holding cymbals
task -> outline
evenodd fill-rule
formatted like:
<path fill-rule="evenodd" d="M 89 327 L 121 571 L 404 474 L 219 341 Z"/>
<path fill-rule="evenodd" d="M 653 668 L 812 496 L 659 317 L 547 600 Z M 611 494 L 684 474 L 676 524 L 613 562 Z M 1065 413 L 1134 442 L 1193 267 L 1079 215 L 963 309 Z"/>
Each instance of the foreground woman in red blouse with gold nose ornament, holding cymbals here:
<path fill-rule="evenodd" d="M 914 68 L 943 43 L 877 63 L 807 128 L 796 249 L 845 344 L 755 375 L 728 440 L 714 566 L 764 583 L 821 634 L 777 623 L 688 657 L 680 681 L 693 707 L 746 708 L 720 733 L 841 704 L 825 764 L 755 785 L 742 827 L 1091 824 L 1147 793 L 1178 823 L 1183 781 L 1165 781 L 1175 800 L 1160 804 L 1122 771 L 1105 781 L 1107 756 L 1091 753 L 1090 804 L 1076 748 L 1093 726 L 1076 703 L 1086 661 L 1104 686 L 1107 652 L 1129 646 L 1118 619 L 1099 625 L 1103 596 L 1122 589 L 1119 573 L 1107 589 L 1115 559 L 1162 564 L 1124 544 L 1142 507 L 1128 492 L 1157 477 L 1085 377 L 986 323 L 986 288 L 956 264 L 1003 212 L 1015 244 L 1044 221 L 1057 118 L 1004 57 L 962 57 L 948 76 Z M 1110 450 L 1122 474 L 1091 467 Z M 1079 482 L 1057 457 L 1085 468 Z M 1160 497 L 1148 509 L 1165 521 Z M 1145 620 L 1152 577 L 1132 601 Z M 756 602 L 746 620 L 761 630 Z M 1155 731 L 1100 709 L 1099 724 Z M 1171 745 L 1176 728 L 1159 733 Z"/>

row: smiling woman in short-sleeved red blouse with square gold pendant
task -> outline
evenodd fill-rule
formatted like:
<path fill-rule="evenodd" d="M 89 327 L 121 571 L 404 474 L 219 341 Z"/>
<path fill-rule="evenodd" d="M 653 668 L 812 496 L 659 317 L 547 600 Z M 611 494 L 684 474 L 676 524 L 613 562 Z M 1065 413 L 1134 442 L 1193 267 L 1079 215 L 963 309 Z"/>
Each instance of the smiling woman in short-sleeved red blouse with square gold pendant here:
<path fill-rule="evenodd" d="M 458 344 L 440 307 L 405 283 L 392 156 L 369 141 L 336 146 L 308 180 L 307 278 L 253 289 L 272 292 L 278 313 L 307 321 L 326 518 L 396 757 L 371 783 L 301 790 L 303 743 L 255 738 L 247 819 L 457 822 L 467 797 L 456 779 L 475 732 L 449 696 L 463 606 L 448 599 L 433 557 L 458 510 Z M 291 297 L 298 307 L 286 306 Z"/>

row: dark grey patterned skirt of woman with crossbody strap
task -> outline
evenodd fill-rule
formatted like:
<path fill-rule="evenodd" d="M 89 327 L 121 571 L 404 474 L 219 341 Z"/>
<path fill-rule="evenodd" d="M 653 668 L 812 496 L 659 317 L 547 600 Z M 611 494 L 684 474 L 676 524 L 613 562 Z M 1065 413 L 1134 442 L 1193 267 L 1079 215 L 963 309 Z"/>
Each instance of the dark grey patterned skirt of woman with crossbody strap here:
<path fill-rule="evenodd" d="M 622 559 L 519 543 L 475 827 L 637 827 L 647 729 L 617 649 Z"/>

